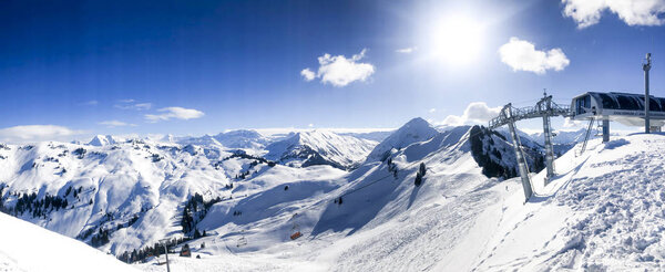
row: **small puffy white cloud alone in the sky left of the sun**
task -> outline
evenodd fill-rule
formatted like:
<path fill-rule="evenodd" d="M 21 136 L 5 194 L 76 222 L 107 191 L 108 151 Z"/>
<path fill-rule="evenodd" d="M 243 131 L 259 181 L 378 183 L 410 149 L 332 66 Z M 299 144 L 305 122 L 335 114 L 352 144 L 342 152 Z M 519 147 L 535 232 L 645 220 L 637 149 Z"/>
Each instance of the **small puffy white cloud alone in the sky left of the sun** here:
<path fill-rule="evenodd" d="M 355 81 L 365 82 L 375 72 L 372 64 L 359 62 L 365 57 L 366 52 L 367 49 L 364 49 L 359 54 L 355 54 L 350 59 L 344 55 L 332 56 L 326 53 L 318 57 L 319 69 L 316 75 L 309 69 L 300 71 L 300 75 L 306 81 L 313 81 L 315 77 L 318 77 L 324 84 L 330 83 L 337 87 L 344 87 Z"/>

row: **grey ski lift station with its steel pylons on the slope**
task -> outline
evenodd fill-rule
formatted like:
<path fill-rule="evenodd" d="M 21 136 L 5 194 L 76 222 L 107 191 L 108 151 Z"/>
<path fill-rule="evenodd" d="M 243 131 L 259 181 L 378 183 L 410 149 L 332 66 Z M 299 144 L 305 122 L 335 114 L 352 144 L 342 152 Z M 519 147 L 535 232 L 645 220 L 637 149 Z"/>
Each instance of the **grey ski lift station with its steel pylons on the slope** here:
<path fill-rule="evenodd" d="M 488 127 L 490 129 L 503 125 L 508 125 L 509 127 L 526 200 L 533 195 L 533 187 L 529 178 L 529 167 L 522 149 L 522 143 L 520 142 L 520 137 L 518 137 L 515 122 L 530 118 L 543 119 L 545 166 L 548 171 L 545 182 L 548 182 L 555 176 L 552 127 L 550 124 L 552 116 L 563 116 L 574 121 L 589 121 L 586 136 L 580 154 L 584 153 L 586 148 L 586 143 L 595 122 L 600 123 L 598 126 L 602 128 L 603 142 L 610 140 L 610 121 L 627 126 L 644 126 L 645 133 L 661 132 L 661 127 L 665 125 L 665 98 L 649 95 L 648 71 L 651 70 L 651 53 L 647 53 L 646 62 L 642 65 L 644 71 L 644 94 L 586 92 L 575 96 L 571 105 L 567 106 L 557 105 L 552 101 L 552 95 L 545 93 L 544 97 L 532 107 L 515 108 L 511 103 L 507 104 L 499 113 L 499 116 L 489 122 Z"/>

